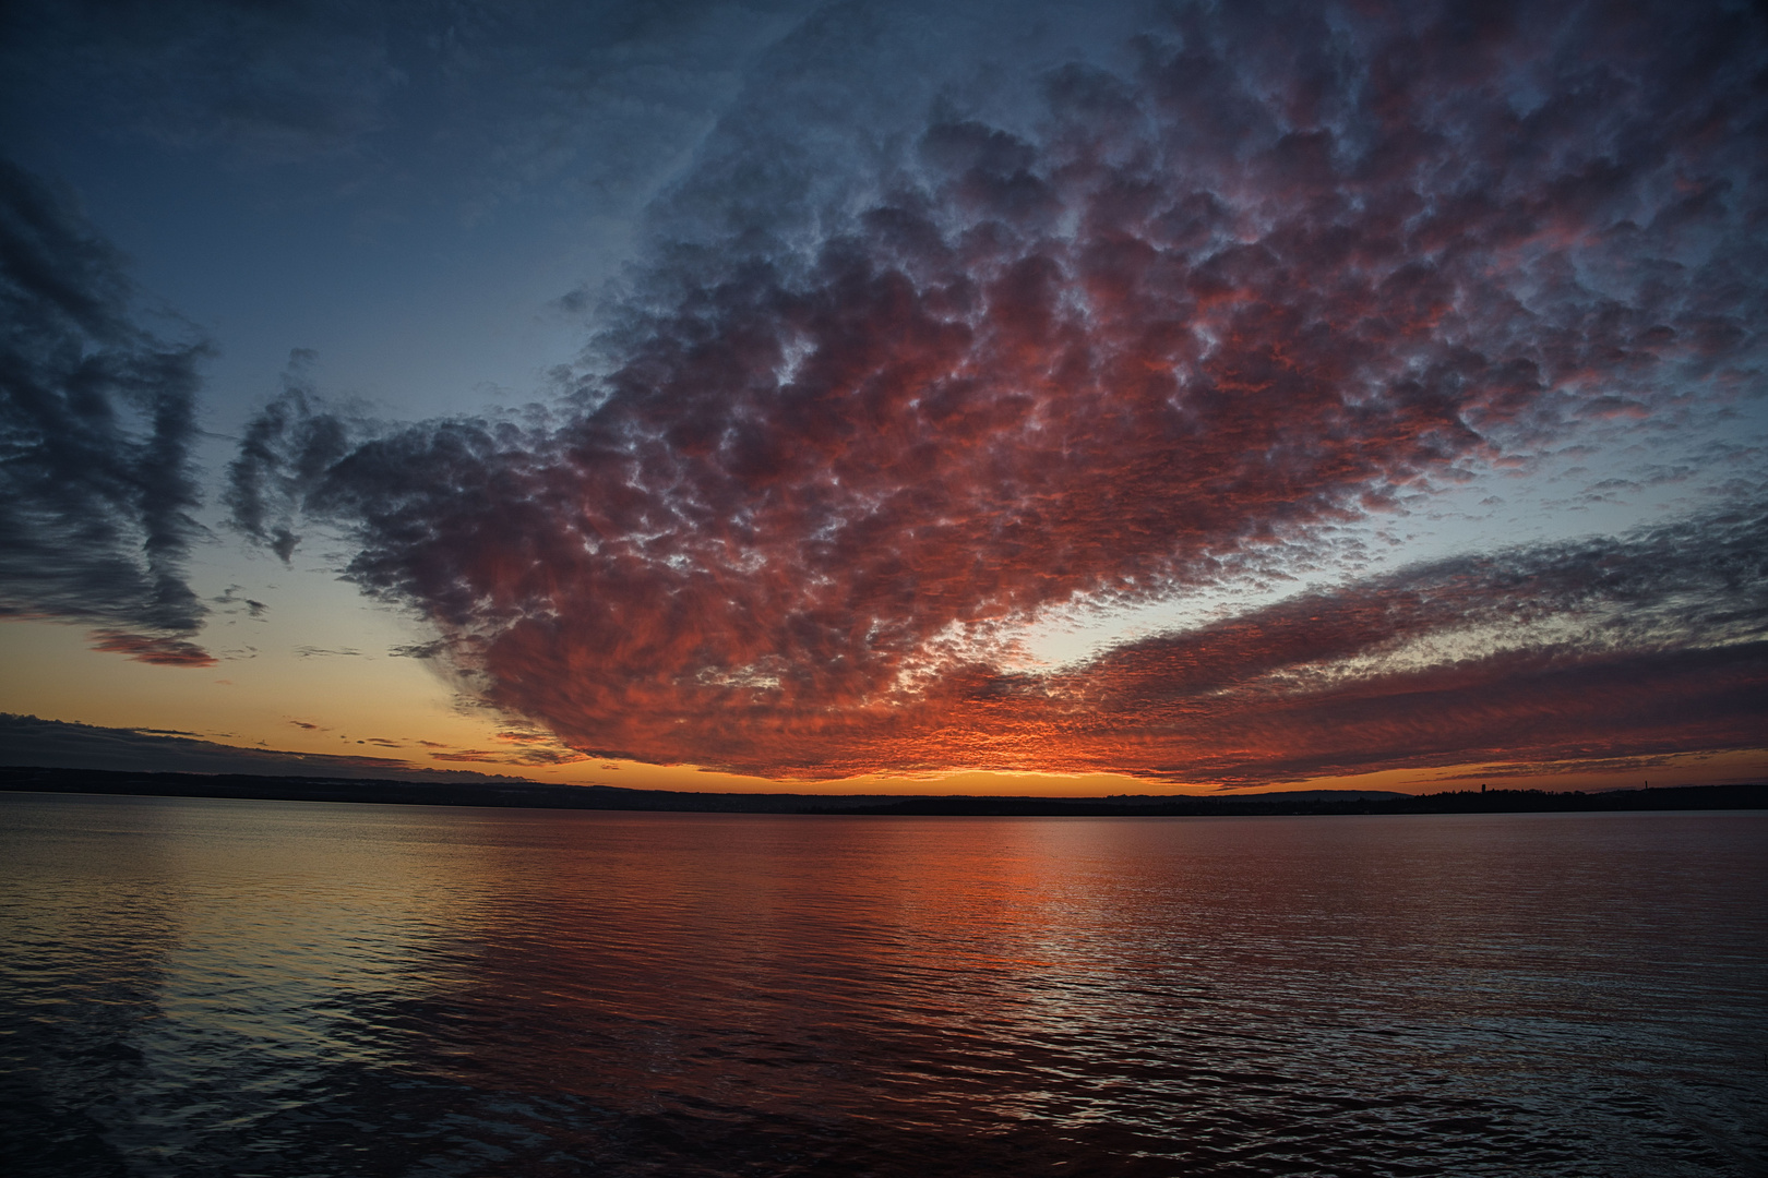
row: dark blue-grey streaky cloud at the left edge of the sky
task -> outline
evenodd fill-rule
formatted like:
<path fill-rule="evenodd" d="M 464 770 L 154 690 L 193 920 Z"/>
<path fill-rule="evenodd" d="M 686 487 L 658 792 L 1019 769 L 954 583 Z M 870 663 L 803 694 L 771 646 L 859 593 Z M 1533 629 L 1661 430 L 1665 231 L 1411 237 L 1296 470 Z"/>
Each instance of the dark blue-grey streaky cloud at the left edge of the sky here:
<path fill-rule="evenodd" d="M 0 161 L 0 613 L 92 622 L 101 650 L 205 666 L 184 563 L 207 346 L 147 330 L 134 295 L 72 200 Z"/>

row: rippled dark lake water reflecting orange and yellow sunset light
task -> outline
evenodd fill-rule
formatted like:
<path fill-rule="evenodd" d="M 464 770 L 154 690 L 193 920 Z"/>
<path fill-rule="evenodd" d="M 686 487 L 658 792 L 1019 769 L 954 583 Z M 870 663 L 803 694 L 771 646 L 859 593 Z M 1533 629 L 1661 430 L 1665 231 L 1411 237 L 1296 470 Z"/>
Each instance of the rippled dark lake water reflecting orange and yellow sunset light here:
<path fill-rule="evenodd" d="M 1768 816 L 0 795 L 11 1174 L 1761 1174 Z"/>

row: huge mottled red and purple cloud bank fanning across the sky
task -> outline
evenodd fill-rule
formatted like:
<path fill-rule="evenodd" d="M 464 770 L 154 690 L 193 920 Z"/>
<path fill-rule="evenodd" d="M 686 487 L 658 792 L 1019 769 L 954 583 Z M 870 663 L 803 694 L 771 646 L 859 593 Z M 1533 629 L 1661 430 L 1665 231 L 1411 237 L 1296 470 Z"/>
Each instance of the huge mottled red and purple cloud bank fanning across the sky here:
<path fill-rule="evenodd" d="M 550 419 L 368 431 L 297 390 L 233 466 L 239 523 L 283 553 L 341 528 L 465 682 L 601 756 L 1254 782 L 1756 740 L 1749 503 L 1078 668 L 1008 639 L 1738 413 L 1757 16 L 1181 5 L 1006 69 L 1011 102 L 884 113 L 875 23 L 757 69 Z"/>

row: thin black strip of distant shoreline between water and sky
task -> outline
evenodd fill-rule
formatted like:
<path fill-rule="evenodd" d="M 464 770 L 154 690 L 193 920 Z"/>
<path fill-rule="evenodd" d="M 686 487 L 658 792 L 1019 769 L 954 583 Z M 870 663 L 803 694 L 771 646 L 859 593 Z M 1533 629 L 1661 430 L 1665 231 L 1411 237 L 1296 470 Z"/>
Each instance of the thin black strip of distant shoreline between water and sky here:
<path fill-rule="evenodd" d="M 476 784 L 253 774 L 129 774 L 87 768 L 0 766 L 5 793 L 108 793 L 124 797 L 246 798 L 260 802 L 355 802 L 477 809 L 649 811 L 684 814 L 856 814 L 949 818 L 1170 818 L 1257 814 L 1533 814 L 1595 811 L 1768 809 L 1768 784 L 1671 786 L 1607 793 L 1459 789 L 1400 795 L 1298 789 L 1250 795 L 1117 795 L 1033 798 L 974 795 L 686 793 L 545 782 Z"/>

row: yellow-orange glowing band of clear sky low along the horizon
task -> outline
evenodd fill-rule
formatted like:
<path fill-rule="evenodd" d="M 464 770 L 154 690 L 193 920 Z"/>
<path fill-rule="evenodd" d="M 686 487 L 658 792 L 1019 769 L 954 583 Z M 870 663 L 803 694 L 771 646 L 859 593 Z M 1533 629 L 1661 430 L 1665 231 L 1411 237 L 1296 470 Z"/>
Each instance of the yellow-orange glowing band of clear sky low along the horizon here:
<path fill-rule="evenodd" d="M 631 759 L 582 756 L 534 726 L 511 728 L 507 717 L 451 706 L 442 680 L 410 659 L 251 659 L 212 669 L 168 669 L 118 664 L 81 641 L 65 625 L 0 625 L 0 650 L 12 666 L 35 664 L 41 675 L 0 683 L 0 712 L 35 714 L 103 728 L 186 733 L 191 738 L 246 751 L 281 751 L 322 758 L 377 758 L 389 772 L 472 770 L 557 784 L 621 786 L 697 793 L 879 793 L 879 795 L 1208 795 L 1273 789 L 1390 789 L 1436 793 L 1444 789 L 1535 788 L 1616 789 L 1646 782 L 1724 784 L 1768 777 L 1768 751 L 1741 747 L 1718 752 L 1664 752 L 1655 756 L 1574 756 L 1524 759 L 1490 749 L 1480 761 L 1437 758 L 1434 763 L 1376 768 L 1372 772 L 1296 774 L 1280 781 L 1163 781 L 1155 775 L 1087 772 L 1086 761 L 1124 759 L 1132 749 L 1110 740 L 1070 740 L 1066 751 L 1050 728 L 1011 736 L 1018 740 L 1024 770 L 948 770 L 925 774 L 850 774 L 845 777 L 769 777 L 720 772 L 695 765 L 649 765 Z M 1597 699 L 1595 705 L 1602 705 Z M 987 710 L 987 705 L 983 705 Z M 207 717 L 203 731 L 186 728 L 191 714 Z M 976 742 L 983 724 L 1010 717 L 976 717 L 962 705 L 941 729 L 921 736 L 923 752 L 971 740 L 999 754 L 1001 745 Z M 1292 735 L 1301 735 L 1292 729 Z M 1232 738 L 1232 733 L 1227 733 Z M 1337 733 L 1351 740 L 1354 733 Z M 1170 749 L 1170 738 L 1165 742 Z M 1199 742 L 1200 752 L 1236 763 L 1257 756 L 1216 736 Z M 1038 772 L 1038 758 L 1063 765 Z M 1082 765 L 1073 766 L 1077 761 Z M 249 772 L 249 770 L 242 770 Z M 272 770 L 265 770 L 272 772 Z M 316 772 L 316 770 L 306 770 Z M 354 770 L 364 772 L 364 770 Z"/>

